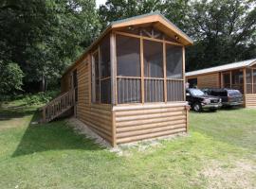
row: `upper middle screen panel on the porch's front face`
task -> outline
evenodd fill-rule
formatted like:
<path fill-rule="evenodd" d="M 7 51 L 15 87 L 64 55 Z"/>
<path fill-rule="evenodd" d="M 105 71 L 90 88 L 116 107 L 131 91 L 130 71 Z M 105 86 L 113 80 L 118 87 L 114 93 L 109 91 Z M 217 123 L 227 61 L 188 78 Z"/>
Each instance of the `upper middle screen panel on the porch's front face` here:
<path fill-rule="evenodd" d="M 144 76 L 163 77 L 163 43 L 144 40 Z"/>

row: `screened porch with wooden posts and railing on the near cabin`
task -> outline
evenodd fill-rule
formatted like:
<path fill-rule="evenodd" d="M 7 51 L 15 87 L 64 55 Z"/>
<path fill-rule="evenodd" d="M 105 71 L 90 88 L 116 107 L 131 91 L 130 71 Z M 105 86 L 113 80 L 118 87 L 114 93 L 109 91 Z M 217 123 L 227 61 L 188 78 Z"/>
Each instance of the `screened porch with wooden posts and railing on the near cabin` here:
<path fill-rule="evenodd" d="M 180 102 L 185 49 L 153 26 L 105 36 L 91 54 L 91 99 L 100 104 Z"/>

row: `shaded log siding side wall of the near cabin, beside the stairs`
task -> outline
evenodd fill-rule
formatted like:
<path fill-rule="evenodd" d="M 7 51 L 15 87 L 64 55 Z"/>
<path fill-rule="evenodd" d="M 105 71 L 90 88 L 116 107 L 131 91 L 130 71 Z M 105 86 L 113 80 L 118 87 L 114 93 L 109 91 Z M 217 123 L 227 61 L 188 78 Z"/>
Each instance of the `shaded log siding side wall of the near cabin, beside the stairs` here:
<path fill-rule="evenodd" d="M 112 106 L 91 103 L 91 69 L 90 60 L 80 62 L 63 77 L 62 90 L 70 89 L 68 85 L 70 73 L 78 72 L 78 102 L 76 105 L 77 118 L 103 139 L 112 143 Z M 62 92 L 64 92 L 62 91 Z"/>

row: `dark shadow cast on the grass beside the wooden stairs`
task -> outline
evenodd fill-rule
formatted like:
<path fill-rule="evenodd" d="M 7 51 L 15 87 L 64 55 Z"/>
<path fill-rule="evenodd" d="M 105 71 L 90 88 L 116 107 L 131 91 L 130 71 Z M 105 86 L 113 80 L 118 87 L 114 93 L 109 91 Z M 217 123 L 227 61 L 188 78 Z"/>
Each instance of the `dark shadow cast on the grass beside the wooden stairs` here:
<path fill-rule="evenodd" d="M 48 150 L 102 149 L 93 140 L 86 139 L 84 135 L 75 133 L 64 120 L 57 120 L 47 124 L 34 124 L 38 120 L 39 113 L 33 112 L 33 117 L 12 157 Z"/>

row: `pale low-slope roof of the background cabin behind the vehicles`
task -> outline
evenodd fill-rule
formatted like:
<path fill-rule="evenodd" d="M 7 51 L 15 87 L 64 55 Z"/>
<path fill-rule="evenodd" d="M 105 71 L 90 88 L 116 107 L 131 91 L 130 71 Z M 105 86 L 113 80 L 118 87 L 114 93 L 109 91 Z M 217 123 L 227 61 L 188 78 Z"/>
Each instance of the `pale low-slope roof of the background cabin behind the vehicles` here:
<path fill-rule="evenodd" d="M 254 64 L 256 64 L 256 59 L 237 61 L 237 62 L 225 64 L 225 65 L 220 65 L 220 66 L 215 66 L 215 67 L 206 68 L 206 69 L 202 69 L 202 70 L 187 72 L 186 77 L 192 77 L 192 76 L 197 76 L 197 75 L 202 75 L 202 74 L 209 74 L 209 73 L 214 73 L 214 72 L 222 72 L 222 71 L 227 71 L 227 70 L 231 70 L 231 69 L 244 68 L 244 67 L 252 66 Z"/>

